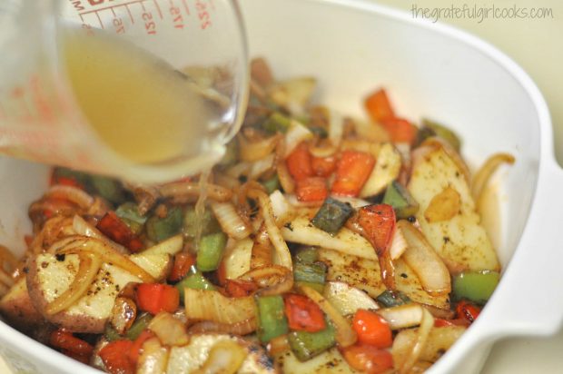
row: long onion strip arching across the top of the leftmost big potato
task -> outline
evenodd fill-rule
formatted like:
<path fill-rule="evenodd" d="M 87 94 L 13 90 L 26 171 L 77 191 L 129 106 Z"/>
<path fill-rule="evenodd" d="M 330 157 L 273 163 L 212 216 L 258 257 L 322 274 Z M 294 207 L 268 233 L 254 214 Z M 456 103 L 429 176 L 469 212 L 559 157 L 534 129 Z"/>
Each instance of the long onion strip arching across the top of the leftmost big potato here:
<path fill-rule="evenodd" d="M 139 278 L 143 283 L 154 283 L 154 278 L 151 274 L 141 268 L 139 265 L 131 261 L 126 256 L 123 256 L 112 247 L 94 238 L 84 238 L 84 236 L 74 236 L 66 238 L 66 245 L 57 250 L 59 253 L 78 253 L 78 252 L 93 252 L 101 256 L 102 261 L 111 265 L 122 268 L 128 271 L 135 277 Z M 56 243 L 58 244 L 58 243 Z"/>

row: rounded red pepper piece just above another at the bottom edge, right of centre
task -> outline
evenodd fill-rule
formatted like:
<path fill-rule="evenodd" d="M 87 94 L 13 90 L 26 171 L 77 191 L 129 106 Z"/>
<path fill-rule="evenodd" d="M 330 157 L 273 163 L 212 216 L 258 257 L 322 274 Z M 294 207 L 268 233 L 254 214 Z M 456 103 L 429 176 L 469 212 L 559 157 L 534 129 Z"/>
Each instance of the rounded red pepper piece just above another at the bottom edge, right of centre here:
<path fill-rule="evenodd" d="M 352 328 L 358 334 L 358 341 L 376 348 L 388 348 L 393 344 L 389 323 L 379 314 L 370 310 L 357 310 Z"/>

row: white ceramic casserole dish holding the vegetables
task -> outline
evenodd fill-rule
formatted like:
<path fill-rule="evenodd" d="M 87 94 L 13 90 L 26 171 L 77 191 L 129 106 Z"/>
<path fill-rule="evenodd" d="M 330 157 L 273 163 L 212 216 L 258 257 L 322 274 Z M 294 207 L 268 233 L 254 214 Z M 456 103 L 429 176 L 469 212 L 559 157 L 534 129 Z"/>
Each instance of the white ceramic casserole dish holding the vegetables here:
<path fill-rule="evenodd" d="M 563 172 L 548 108 L 517 64 L 479 39 L 362 0 L 241 0 L 251 55 L 281 78 L 314 75 L 318 101 L 361 115 L 361 98 L 383 85 L 398 112 L 447 123 L 475 166 L 490 154 L 517 162 L 499 173 L 499 288 L 469 331 L 431 372 L 478 372 L 495 340 L 546 335 L 563 316 L 558 231 Z M 47 168 L 0 159 L 0 242 L 23 250 L 30 202 Z M 16 372 L 97 372 L 0 322 L 0 353 Z"/>

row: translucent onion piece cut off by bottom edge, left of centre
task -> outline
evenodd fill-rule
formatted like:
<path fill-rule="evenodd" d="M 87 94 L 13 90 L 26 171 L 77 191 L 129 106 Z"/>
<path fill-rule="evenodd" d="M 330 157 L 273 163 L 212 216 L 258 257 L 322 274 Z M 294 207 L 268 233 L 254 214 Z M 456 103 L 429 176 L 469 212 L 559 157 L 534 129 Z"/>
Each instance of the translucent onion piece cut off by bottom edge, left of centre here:
<path fill-rule="evenodd" d="M 209 351 L 209 356 L 202 368 L 194 370 L 194 374 L 234 374 L 242 366 L 248 352 L 233 340 L 221 340 Z"/>

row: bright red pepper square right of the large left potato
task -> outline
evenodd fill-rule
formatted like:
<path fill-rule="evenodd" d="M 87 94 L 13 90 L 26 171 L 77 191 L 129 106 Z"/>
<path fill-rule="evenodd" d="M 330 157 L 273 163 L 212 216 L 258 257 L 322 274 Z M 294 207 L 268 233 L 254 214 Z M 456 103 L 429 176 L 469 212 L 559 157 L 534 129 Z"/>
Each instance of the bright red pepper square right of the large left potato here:
<path fill-rule="evenodd" d="M 137 287 L 136 300 L 140 310 L 151 314 L 173 313 L 180 306 L 180 292 L 168 284 L 142 283 Z"/>

